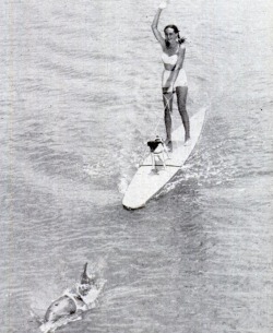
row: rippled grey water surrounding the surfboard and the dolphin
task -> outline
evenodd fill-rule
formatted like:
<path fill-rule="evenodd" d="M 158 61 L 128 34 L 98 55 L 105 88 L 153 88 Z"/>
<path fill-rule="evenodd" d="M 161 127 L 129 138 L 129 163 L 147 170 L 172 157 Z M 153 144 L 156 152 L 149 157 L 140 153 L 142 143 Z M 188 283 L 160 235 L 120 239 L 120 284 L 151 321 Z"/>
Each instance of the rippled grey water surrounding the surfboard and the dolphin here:
<path fill-rule="evenodd" d="M 99 306 L 59 332 L 273 331 L 272 2 L 163 12 L 187 37 L 189 114 L 209 109 L 181 171 L 129 212 L 145 141 L 164 133 L 157 4 L 0 4 L 1 332 L 38 332 L 29 311 L 84 262 L 107 280 Z"/>

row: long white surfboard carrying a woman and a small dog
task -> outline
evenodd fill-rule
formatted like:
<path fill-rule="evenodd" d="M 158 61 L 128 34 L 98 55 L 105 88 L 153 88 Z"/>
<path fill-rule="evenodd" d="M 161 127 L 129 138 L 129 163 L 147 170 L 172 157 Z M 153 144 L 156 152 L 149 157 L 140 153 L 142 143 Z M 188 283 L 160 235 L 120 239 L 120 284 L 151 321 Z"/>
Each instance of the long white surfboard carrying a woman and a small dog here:
<path fill-rule="evenodd" d="M 157 169 L 159 169 L 157 174 L 152 170 L 151 154 L 143 160 L 124 193 L 122 204 L 126 209 L 143 207 L 182 167 L 201 134 L 205 111 L 206 109 L 203 108 L 190 119 L 191 142 L 189 145 L 185 145 L 182 126 L 173 132 L 173 152 L 169 153 L 170 158 L 165 162 L 165 169 L 163 166 L 157 166 Z"/>

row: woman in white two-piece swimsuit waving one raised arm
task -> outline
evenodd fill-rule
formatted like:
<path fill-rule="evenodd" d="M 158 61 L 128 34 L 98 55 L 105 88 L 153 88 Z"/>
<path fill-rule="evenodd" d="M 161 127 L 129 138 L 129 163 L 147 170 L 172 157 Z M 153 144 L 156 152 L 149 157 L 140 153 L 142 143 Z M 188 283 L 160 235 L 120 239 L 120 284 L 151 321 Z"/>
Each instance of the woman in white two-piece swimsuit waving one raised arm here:
<path fill-rule="evenodd" d="M 182 118 L 185 127 L 185 143 L 188 144 L 190 140 L 190 121 L 186 108 L 188 83 L 183 66 L 186 47 L 183 45 L 185 38 L 180 38 L 179 29 L 176 25 L 167 25 L 164 28 L 165 38 L 159 33 L 157 25 L 163 9 L 167 7 L 168 0 L 162 2 L 156 11 L 152 23 L 152 31 L 155 38 L 159 41 L 163 55 L 164 71 L 162 75 L 163 100 L 165 106 L 165 127 L 166 127 L 166 144 L 171 148 L 171 117 L 173 96 L 177 94 L 178 110 Z"/>

